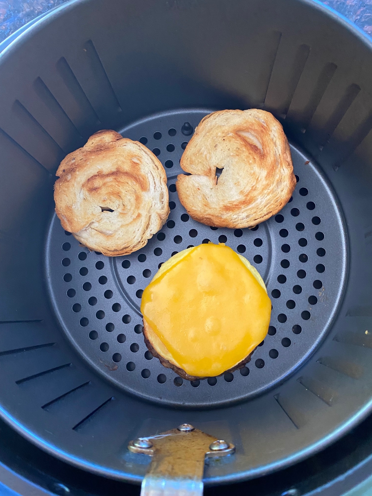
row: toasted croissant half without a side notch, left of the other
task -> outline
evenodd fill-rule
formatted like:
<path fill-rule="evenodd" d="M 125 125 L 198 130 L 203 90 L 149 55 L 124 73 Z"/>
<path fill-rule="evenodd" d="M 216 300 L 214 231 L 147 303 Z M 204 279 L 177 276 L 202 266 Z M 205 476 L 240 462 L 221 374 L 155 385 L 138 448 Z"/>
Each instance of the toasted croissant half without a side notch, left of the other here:
<path fill-rule="evenodd" d="M 144 247 L 169 215 L 162 164 L 116 131 L 93 134 L 62 160 L 56 176 L 54 199 L 63 229 L 104 255 Z"/>

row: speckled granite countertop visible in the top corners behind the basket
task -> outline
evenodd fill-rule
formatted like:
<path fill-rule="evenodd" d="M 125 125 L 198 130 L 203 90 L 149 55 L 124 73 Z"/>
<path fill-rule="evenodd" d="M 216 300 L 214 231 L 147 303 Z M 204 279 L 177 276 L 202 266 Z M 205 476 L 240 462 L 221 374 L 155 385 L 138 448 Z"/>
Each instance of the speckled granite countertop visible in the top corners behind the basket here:
<path fill-rule="evenodd" d="M 0 0 L 0 42 L 26 22 L 67 0 Z M 135 1 L 135 0 L 134 0 Z M 323 0 L 372 36 L 372 0 Z"/>

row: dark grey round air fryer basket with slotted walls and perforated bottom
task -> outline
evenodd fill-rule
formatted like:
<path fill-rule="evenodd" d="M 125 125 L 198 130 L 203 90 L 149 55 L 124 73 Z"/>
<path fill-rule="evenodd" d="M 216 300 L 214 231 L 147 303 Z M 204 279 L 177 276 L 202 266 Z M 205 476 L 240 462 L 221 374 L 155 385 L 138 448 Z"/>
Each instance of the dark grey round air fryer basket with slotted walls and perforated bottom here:
<path fill-rule="evenodd" d="M 321 449 L 372 403 L 372 45 L 313 1 L 72 1 L 0 56 L 0 413 L 69 463 L 138 482 L 138 436 L 192 423 L 236 445 L 205 482 L 251 478 Z M 255 230 L 189 219 L 175 180 L 215 109 L 283 124 L 298 184 Z M 189 125 L 185 125 L 188 123 Z M 165 165 L 171 214 L 126 257 L 90 253 L 54 214 L 54 173 L 100 128 Z M 263 276 L 269 334 L 241 372 L 189 383 L 143 342 L 161 262 L 210 240 Z"/>

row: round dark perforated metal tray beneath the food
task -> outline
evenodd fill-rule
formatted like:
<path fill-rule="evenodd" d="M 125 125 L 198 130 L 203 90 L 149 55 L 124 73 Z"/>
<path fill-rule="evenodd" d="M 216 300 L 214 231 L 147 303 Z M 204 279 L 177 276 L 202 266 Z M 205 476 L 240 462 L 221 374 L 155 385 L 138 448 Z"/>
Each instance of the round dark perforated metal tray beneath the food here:
<path fill-rule="evenodd" d="M 180 158 L 190 134 L 209 112 L 162 113 L 122 130 L 124 137 L 152 150 L 167 172 L 171 214 L 143 249 L 111 259 L 89 252 L 54 216 L 46 257 L 56 314 L 89 363 L 142 398 L 197 408 L 262 393 L 306 361 L 337 311 L 347 265 L 344 224 L 334 194 L 294 146 L 298 184 L 278 215 L 251 230 L 211 228 L 189 218 L 175 182 L 183 173 Z M 225 243 L 248 258 L 267 285 L 273 309 L 268 335 L 246 367 L 190 383 L 147 350 L 140 301 L 162 263 L 182 249 L 209 241 Z"/>

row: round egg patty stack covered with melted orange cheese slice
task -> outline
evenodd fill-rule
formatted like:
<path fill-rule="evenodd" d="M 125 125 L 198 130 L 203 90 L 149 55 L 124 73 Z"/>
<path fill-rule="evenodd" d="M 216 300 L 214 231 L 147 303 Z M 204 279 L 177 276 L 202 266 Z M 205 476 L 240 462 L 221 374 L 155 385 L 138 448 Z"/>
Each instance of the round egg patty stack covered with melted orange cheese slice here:
<path fill-rule="evenodd" d="M 141 312 L 159 355 L 203 377 L 233 368 L 264 339 L 271 302 L 246 258 L 209 243 L 161 266 L 143 292 Z"/>

